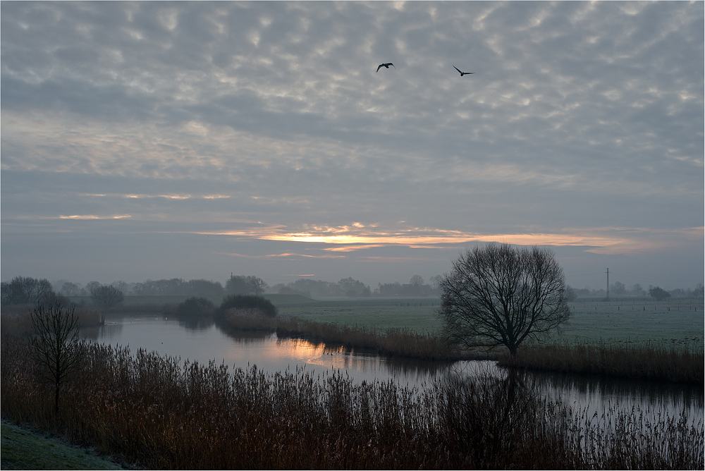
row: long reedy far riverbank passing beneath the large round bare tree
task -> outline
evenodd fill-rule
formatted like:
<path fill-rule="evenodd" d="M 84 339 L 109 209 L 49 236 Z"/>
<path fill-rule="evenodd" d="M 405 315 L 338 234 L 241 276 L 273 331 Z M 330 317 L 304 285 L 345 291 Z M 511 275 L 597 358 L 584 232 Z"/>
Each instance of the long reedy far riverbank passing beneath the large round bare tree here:
<path fill-rule="evenodd" d="M 420 360 L 497 360 L 498 365 L 576 374 L 603 374 L 625 379 L 648 379 L 676 383 L 704 384 L 702 351 L 687 345 L 650 342 L 522 346 L 516 357 L 506 349 L 453 350 L 443 338 L 418 334 L 410 329 L 374 329 L 314 322 L 298 317 L 283 319 L 238 315 L 221 317 L 222 329 L 263 330 L 281 338 L 343 345 L 349 349 L 372 351 L 379 355 Z"/>

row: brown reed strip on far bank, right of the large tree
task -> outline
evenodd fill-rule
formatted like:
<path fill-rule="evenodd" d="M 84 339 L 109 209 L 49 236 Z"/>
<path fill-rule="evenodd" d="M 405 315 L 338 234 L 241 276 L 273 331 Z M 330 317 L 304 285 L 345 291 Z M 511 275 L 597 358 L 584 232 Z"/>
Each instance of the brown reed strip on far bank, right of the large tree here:
<path fill-rule="evenodd" d="M 499 365 L 703 384 L 705 355 L 702 350 L 687 345 L 601 341 L 597 344 L 526 347 L 514 358 L 504 357 Z"/>

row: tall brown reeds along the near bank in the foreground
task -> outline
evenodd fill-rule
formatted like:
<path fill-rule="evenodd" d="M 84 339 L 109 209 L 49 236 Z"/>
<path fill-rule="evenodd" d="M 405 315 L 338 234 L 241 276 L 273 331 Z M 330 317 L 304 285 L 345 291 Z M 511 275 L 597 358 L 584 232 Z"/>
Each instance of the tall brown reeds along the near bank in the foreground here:
<path fill-rule="evenodd" d="M 423 391 L 264 374 L 85 343 L 54 412 L 25 338 L 3 336 L 2 417 L 151 469 L 702 469 L 703 423 L 541 398 L 520 372 Z M 651 417 L 651 418 L 646 418 Z M 656 418 L 653 418 L 656 417 Z"/>

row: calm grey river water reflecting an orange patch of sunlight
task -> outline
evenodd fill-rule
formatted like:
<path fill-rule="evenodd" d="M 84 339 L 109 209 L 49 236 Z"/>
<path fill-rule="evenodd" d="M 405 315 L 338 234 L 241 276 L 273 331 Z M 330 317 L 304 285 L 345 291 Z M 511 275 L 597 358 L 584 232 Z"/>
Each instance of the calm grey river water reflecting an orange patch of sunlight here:
<path fill-rule="evenodd" d="M 351 353 L 309 341 L 277 338 L 276 334 L 240 332 L 226 334 L 212 320 L 188 321 L 164 315 L 145 314 L 109 317 L 102 327 L 85 329 L 82 334 L 109 345 L 129 346 L 162 355 L 207 364 L 215 360 L 228 367 L 257 365 L 265 372 L 294 371 L 325 373 L 331 369 L 345 372 L 354 381 L 388 381 L 419 389 L 448 374 L 472 375 L 489 371 L 501 375 L 494 362 L 424 362 Z M 552 400 L 560 400 L 574 410 L 590 414 L 618 407 L 650 411 L 651 414 L 678 416 L 682 412 L 692 423 L 703 420 L 704 388 L 656 381 L 631 381 L 605 377 L 586 377 L 537 372 L 532 379 Z"/>

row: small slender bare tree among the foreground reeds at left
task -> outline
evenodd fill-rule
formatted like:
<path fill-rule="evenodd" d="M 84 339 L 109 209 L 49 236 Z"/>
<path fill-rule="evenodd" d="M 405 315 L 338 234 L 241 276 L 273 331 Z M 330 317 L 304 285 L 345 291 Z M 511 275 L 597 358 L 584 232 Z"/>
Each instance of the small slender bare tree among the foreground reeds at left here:
<path fill-rule="evenodd" d="M 42 379 L 54 384 L 54 411 L 59 412 L 61 386 L 80 367 L 82 360 L 75 306 L 63 307 L 59 302 L 49 307 L 39 304 L 30 312 L 30 317 L 35 329 L 32 354 Z"/>

